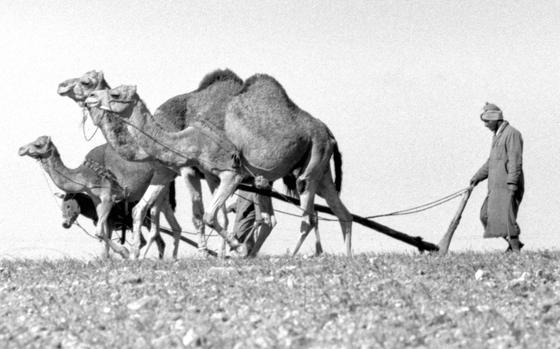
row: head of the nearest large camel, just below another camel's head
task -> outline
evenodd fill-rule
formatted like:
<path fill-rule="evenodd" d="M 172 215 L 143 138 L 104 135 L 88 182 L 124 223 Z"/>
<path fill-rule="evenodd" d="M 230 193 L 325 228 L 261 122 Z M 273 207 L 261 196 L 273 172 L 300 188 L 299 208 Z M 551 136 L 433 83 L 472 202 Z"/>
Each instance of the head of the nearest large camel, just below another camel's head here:
<path fill-rule="evenodd" d="M 139 100 L 136 86 L 121 85 L 112 89 L 93 91 L 85 102 L 88 108 L 98 108 L 126 117 L 127 112 Z"/>

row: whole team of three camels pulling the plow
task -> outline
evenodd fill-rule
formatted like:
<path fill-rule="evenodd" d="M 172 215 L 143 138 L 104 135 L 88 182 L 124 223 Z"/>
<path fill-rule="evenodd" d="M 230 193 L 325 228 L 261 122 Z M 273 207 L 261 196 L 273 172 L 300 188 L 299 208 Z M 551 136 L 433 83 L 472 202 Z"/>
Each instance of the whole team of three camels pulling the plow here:
<path fill-rule="evenodd" d="M 174 190 L 170 187 L 179 174 L 192 201 L 199 237 L 195 245 L 201 254 L 213 252 L 206 244 L 208 226 L 232 251 L 246 256 L 245 244 L 227 233 L 224 204 L 241 182 L 282 178 L 299 196 L 302 212 L 293 253 L 311 230 L 317 237 L 316 253 L 322 251 L 314 211 L 317 194 L 337 216 L 346 253 L 351 256 L 352 215 L 339 197 L 342 162 L 337 142 L 328 127 L 292 102 L 273 77 L 256 74 L 243 81 L 229 69 L 216 70 L 197 89 L 167 100 L 153 115 L 135 86 L 111 88 L 100 71 L 65 80 L 58 93 L 84 109 L 107 143 L 92 149 L 75 169 L 64 165 L 47 136 L 20 147 L 19 155 L 38 159 L 60 190 L 89 197 L 97 216 L 96 235 L 105 242 L 106 256 L 111 249 L 123 258 L 139 258 L 141 227 L 149 212 L 144 256 L 156 242 L 163 258 L 165 243 L 159 226 L 163 213 L 173 231 L 173 258 L 177 258 L 181 226 L 171 205 Z M 206 210 L 203 179 L 213 195 Z M 116 228 L 111 210 L 123 202 L 133 206 L 130 251 L 111 239 Z"/>

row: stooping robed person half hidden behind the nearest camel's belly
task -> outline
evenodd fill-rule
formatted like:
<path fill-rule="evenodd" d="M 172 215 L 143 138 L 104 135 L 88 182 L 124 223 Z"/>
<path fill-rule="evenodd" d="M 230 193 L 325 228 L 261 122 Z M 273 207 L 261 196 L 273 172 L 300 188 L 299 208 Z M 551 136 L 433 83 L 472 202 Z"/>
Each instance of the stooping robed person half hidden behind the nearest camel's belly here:
<path fill-rule="evenodd" d="M 262 177 L 255 179 L 258 188 L 270 188 L 270 183 Z M 236 192 L 237 200 L 228 207 L 228 212 L 235 212 L 233 234 L 247 244 L 249 257 L 256 257 L 264 241 L 276 225 L 276 217 L 269 196 L 259 195 L 244 190 Z"/>

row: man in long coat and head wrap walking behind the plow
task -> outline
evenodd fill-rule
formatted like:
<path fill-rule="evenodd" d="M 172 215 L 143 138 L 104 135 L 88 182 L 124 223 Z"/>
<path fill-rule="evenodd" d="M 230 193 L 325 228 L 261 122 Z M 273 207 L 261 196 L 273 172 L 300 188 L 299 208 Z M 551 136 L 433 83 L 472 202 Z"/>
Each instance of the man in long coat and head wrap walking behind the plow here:
<path fill-rule="evenodd" d="M 506 251 L 519 252 L 523 247 L 517 225 L 517 211 L 525 190 L 523 139 L 494 104 L 486 103 L 480 119 L 494 133 L 490 157 L 470 182 L 476 186 L 488 178 L 488 195 L 480 210 L 484 238 L 503 237 L 509 244 Z"/>

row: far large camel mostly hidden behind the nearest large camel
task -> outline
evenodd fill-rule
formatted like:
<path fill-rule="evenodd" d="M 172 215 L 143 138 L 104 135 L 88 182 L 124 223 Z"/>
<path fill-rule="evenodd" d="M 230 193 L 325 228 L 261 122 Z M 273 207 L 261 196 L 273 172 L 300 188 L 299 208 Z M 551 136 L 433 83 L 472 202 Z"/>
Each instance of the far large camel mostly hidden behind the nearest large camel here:
<path fill-rule="evenodd" d="M 177 95 L 164 102 L 155 111 L 154 118 L 159 124 L 170 131 L 182 130 L 196 115 L 212 112 L 215 100 L 219 102 L 233 95 L 241 89 L 242 85 L 243 80 L 231 70 L 216 70 L 203 78 L 197 90 Z M 213 88 L 211 92 L 208 93 L 210 86 Z M 109 88 L 109 84 L 105 81 L 103 73 L 90 71 L 80 78 L 68 79 L 62 82 L 59 85 L 58 93 L 62 96 L 70 97 L 76 101 L 80 107 L 84 107 L 84 101 L 91 92 L 107 88 Z M 133 139 L 129 139 L 127 142 L 121 140 L 113 145 L 119 154 L 127 160 L 147 162 L 157 160 L 146 154 Z M 159 167 L 161 167 L 159 162 L 153 162 L 153 165 L 156 167 L 156 172 L 159 172 Z M 184 179 L 187 193 L 192 203 L 192 222 L 199 236 L 199 251 L 202 254 L 207 254 L 208 249 L 203 223 L 204 206 L 200 182 L 202 178 L 206 178 L 210 191 L 214 192 L 218 186 L 218 179 L 211 173 L 203 174 L 192 166 L 172 168 L 176 172 L 180 172 Z M 161 178 L 160 182 L 164 180 L 164 178 Z M 158 195 L 161 195 L 161 186 L 158 183 L 153 183 L 153 185 L 150 185 L 141 203 L 145 203 L 146 205 L 152 203 L 157 199 Z M 141 217 L 143 217 L 146 212 L 146 207 L 139 206 L 135 207 L 134 210 L 135 218 L 140 221 Z M 225 222 L 227 226 L 227 214 L 225 210 L 222 211 L 222 221 Z M 135 230 L 137 228 L 139 229 L 139 225 L 135 225 Z"/>

